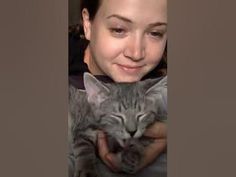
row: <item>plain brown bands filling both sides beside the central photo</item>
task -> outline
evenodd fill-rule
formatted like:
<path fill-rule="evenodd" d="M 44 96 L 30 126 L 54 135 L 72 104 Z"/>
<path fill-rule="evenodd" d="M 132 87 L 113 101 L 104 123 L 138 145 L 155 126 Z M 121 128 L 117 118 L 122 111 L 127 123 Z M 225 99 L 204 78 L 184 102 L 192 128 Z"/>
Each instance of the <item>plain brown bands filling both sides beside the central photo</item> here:
<path fill-rule="evenodd" d="M 0 176 L 67 176 L 68 2 L 0 2 Z M 235 176 L 235 1 L 168 1 L 168 177 Z"/>

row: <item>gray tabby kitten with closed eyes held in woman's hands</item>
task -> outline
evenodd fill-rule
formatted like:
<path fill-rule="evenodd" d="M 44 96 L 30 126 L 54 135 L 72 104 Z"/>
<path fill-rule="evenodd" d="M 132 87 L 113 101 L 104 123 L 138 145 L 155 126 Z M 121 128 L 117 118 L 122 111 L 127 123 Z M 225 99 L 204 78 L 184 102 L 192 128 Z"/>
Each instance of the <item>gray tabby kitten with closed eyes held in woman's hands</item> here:
<path fill-rule="evenodd" d="M 136 83 L 103 83 L 84 74 L 85 91 L 69 88 L 69 177 L 136 176 L 148 126 L 167 117 L 167 76 Z M 112 173 L 98 158 L 97 130 L 107 134 L 119 170 Z"/>

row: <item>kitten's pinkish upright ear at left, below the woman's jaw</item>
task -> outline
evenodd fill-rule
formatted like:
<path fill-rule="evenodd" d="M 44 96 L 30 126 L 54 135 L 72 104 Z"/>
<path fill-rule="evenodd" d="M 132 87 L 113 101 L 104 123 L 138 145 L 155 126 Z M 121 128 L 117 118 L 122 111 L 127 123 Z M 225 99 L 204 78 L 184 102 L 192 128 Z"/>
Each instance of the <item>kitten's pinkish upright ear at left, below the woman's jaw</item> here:
<path fill-rule="evenodd" d="M 88 102 L 99 106 L 108 98 L 110 90 L 90 73 L 84 73 L 84 87 L 88 95 Z"/>

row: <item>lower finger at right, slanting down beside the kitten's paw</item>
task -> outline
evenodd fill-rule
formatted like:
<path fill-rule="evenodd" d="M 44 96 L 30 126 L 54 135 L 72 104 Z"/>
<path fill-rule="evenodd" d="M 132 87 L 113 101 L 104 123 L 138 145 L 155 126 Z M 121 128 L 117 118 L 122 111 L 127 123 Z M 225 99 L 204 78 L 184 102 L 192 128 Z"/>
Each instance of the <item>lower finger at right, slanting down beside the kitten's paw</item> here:
<path fill-rule="evenodd" d="M 142 169 L 152 163 L 158 157 L 158 155 L 166 150 L 166 147 L 166 139 L 155 139 L 153 143 L 145 148 L 144 158 L 139 166 L 139 169 Z"/>

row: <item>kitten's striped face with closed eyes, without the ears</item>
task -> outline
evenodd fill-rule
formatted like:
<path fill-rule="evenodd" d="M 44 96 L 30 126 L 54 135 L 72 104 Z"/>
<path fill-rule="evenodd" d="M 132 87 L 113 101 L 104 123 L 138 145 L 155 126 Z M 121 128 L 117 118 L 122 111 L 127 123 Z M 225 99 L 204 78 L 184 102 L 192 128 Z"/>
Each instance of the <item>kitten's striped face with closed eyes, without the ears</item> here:
<path fill-rule="evenodd" d="M 157 116 L 158 109 L 148 107 L 152 102 L 138 92 L 137 86 L 133 84 L 125 88 L 125 85 L 116 85 L 110 98 L 103 101 L 96 111 L 100 115 L 101 128 L 116 139 L 139 138 Z"/>

